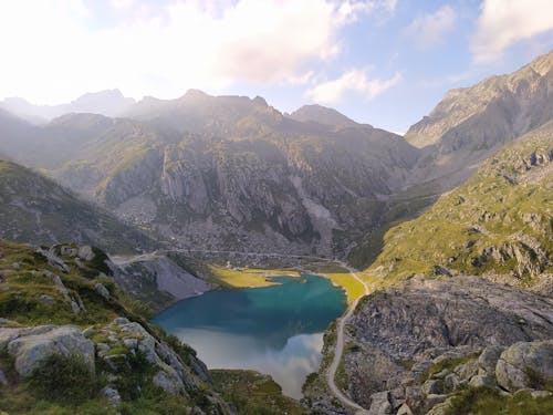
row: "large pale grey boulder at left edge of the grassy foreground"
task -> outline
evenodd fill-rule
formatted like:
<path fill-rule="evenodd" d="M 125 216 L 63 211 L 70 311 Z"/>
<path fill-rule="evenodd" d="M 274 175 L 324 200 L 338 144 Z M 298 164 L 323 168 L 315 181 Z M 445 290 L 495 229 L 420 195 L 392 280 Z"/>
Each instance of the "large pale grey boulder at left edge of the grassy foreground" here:
<path fill-rule="evenodd" d="M 40 325 L 30 329 L 0 329 L 0 350 L 7 350 L 15 360 L 15 370 L 22 377 L 53 354 L 77 355 L 94 371 L 94 344 L 76 326 Z"/>

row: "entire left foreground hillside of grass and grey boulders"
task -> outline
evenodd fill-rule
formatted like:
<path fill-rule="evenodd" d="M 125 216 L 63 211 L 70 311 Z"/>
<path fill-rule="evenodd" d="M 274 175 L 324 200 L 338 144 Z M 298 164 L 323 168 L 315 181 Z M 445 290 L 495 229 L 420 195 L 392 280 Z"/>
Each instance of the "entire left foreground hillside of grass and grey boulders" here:
<path fill-rule="evenodd" d="M 236 413 L 112 269 L 92 247 L 0 241 L 0 413 Z"/>

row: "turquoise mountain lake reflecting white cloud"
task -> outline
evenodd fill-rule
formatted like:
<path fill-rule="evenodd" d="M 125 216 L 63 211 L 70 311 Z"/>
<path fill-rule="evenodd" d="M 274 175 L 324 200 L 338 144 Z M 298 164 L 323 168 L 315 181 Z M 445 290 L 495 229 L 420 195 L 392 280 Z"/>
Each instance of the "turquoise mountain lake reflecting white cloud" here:
<path fill-rule="evenodd" d="M 284 394 L 299 398 L 321 362 L 323 331 L 345 311 L 346 298 L 322 277 L 273 280 L 280 286 L 179 301 L 154 322 L 196 349 L 209 369 L 268 373 Z"/>

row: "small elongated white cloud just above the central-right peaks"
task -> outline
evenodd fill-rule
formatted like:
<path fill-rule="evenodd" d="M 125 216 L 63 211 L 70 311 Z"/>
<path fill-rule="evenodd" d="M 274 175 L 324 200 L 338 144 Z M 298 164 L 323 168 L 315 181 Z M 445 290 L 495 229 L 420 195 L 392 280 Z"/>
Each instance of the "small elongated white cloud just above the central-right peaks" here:
<path fill-rule="evenodd" d="M 396 85 L 401 74 L 396 73 L 388 80 L 369 79 L 367 71 L 352 70 L 336 80 L 327 81 L 307 91 L 307 96 L 321 104 L 335 104 L 347 93 L 353 92 L 365 100 L 372 100 Z"/>

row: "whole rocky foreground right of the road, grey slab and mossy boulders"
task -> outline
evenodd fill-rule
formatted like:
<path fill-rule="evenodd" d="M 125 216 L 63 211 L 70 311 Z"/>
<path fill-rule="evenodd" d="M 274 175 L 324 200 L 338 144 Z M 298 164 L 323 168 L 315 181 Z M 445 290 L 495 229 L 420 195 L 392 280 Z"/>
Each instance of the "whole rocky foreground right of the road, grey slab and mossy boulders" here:
<path fill-rule="evenodd" d="M 346 333 L 337 383 L 369 414 L 553 407 L 551 298 L 481 278 L 411 278 L 364 299 Z M 316 413 L 353 413 L 306 392 Z"/>

